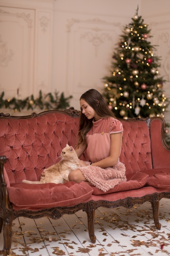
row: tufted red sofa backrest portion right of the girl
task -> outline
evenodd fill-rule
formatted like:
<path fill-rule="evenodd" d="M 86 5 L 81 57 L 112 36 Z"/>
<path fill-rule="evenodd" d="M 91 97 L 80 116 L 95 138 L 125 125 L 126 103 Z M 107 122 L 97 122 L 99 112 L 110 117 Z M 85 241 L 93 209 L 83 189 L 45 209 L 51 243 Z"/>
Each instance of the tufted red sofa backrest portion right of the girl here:
<path fill-rule="evenodd" d="M 120 121 L 124 128 L 120 162 L 125 164 L 126 172 L 152 169 L 148 124 L 142 120 Z"/>

